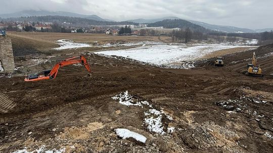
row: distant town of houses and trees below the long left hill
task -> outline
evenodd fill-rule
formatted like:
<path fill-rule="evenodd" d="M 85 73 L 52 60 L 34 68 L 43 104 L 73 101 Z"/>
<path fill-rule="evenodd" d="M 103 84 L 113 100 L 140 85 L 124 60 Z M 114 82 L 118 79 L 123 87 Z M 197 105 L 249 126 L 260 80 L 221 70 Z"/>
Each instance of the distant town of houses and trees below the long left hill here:
<path fill-rule="evenodd" d="M 89 26 L 74 27 L 72 23 L 52 23 L 52 22 L 0 22 L 0 30 L 6 31 L 26 31 L 26 32 L 63 32 L 63 33 L 105 33 L 107 35 L 131 34 L 131 35 L 155 35 L 155 30 L 163 30 L 163 27 L 147 27 L 147 24 L 139 25 L 113 25 L 113 26 Z M 128 31 L 122 31 L 128 28 Z M 179 28 L 173 28 L 179 30 Z M 165 29 L 166 30 L 166 29 Z M 122 31 L 122 32 L 121 32 Z M 158 33 L 162 35 L 164 33 Z"/>

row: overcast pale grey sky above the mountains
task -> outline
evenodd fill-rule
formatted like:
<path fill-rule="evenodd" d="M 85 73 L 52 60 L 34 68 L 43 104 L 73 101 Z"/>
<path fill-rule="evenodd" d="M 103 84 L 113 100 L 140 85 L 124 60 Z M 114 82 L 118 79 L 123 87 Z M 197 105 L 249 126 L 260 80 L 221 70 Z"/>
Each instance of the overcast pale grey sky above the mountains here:
<path fill-rule="evenodd" d="M 0 0 L 0 14 L 68 11 L 116 21 L 175 16 L 242 28 L 273 28 L 272 0 Z"/>

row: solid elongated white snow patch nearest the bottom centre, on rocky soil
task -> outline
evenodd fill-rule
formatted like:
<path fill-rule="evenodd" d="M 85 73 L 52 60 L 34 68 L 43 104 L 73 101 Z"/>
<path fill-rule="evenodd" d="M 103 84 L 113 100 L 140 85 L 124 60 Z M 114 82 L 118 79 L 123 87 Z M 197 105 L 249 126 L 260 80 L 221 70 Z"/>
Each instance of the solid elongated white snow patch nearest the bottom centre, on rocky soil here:
<path fill-rule="evenodd" d="M 129 137 L 132 137 L 140 142 L 143 142 L 145 143 L 147 138 L 139 133 L 136 133 L 136 132 L 133 132 L 133 131 L 130 131 L 128 129 L 125 129 L 125 128 L 117 128 L 115 129 L 117 135 L 119 137 L 122 137 L 122 138 L 129 138 Z"/>

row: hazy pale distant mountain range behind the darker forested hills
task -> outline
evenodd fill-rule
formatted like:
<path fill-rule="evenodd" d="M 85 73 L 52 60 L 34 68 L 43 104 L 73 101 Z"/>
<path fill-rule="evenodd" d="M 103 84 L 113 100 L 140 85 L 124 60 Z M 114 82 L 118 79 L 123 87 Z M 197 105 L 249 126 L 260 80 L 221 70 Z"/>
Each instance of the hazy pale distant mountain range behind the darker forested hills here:
<path fill-rule="evenodd" d="M 71 12 L 49 12 L 49 11 L 33 11 L 33 10 L 25 10 L 10 14 L 2 14 L 0 18 L 17 18 L 17 17 L 30 17 L 30 16 L 66 16 L 66 17 L 78 17 L 96 21 L 113 21 L 110 19 L 103 19 L 97 15 L 82 15 L 77 13 Z M 149 24 L 155 23 L 159 21 L 163 21 L 166 19 L 180 19 L 178 17 L 164 17 L 164 18 L 157 18 L 157 19 L 134 19 L 134 20 L 127 20 L 128 22 L 140 23 L 140 24 Z M 234 26 L 222 26 L 222 25 L 212 25 L 204 22 L 194 21 L 194 20 L 187 20 L 191 23 L 196 25 L 202 26 L 204 28 L 220 31 L 220 32 L 227 32 L 227 33 L 255 33 L 255 32 L 264 32 L 264 31 L 271 31 L 273 28 L 266 28 L 266 29 L 247 29 L 247 28 L 238 28 Z"/>

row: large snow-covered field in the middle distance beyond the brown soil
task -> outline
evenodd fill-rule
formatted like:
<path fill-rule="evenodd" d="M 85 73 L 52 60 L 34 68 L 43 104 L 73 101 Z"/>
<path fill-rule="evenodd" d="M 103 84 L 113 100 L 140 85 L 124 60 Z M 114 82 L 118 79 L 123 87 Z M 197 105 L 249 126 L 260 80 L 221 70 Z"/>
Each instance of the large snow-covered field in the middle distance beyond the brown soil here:
<path fill-rule="evenodd" d="M 256 43 L 254 40 L 248 44 Z M 125 50 L 108 50 L 96 54 L 116 55 L 127 57 L 156 65 L 168 65 L 174 62 L 196 60 L 210 52 L 236 47 L 253 47 L 242 42 L 232 43 L 198 43 L 191 46 L 181 44 L 143 44 L 141 47 Z"/>

